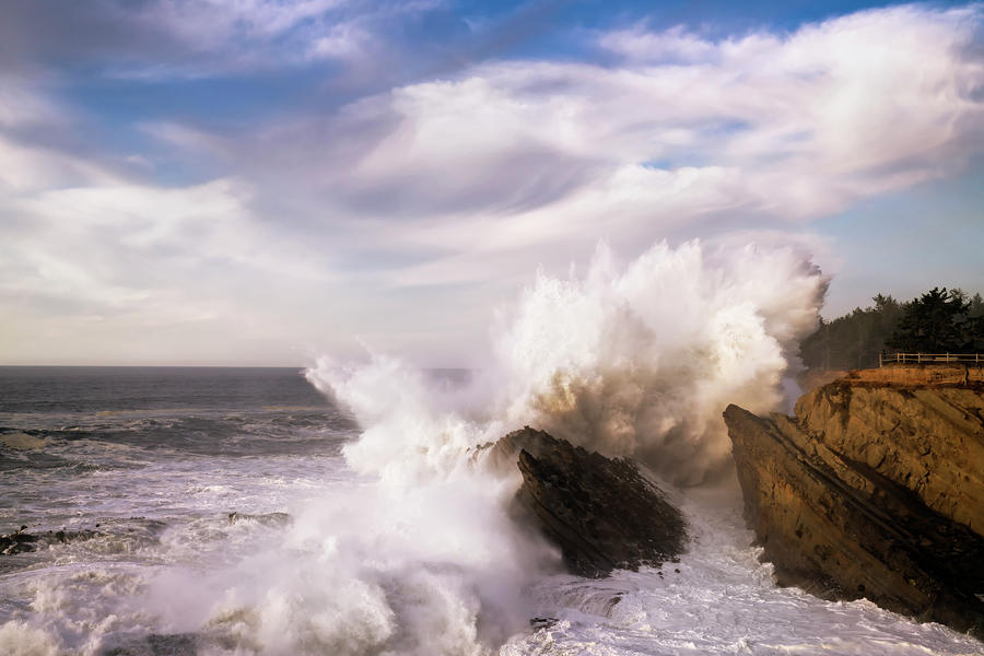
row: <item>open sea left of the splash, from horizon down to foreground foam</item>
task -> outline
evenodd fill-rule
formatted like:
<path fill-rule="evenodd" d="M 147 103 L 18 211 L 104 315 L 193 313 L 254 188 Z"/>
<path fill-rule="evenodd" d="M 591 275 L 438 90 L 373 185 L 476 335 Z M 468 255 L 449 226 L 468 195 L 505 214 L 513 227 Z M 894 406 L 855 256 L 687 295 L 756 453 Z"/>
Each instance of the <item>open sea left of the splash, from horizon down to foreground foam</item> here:
<path fill-rule="evenodd" d="M 119 606 L 268 539 L 356 434 L 297 368 L 0 367 L 0 534 L 83 534 L 0 555 L 0 654 L 142 653 L 160 626 Z"/>

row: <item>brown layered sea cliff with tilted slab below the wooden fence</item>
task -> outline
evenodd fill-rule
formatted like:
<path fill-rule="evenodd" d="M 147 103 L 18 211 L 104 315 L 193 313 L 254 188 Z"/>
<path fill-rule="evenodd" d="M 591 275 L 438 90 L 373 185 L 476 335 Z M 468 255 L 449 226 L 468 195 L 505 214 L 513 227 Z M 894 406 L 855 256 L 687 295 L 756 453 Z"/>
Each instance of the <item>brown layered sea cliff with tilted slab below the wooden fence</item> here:
<path fill-rule="evenodd" d="M 724 413 L 781 585 L 984 634 L 984 389 L 857 376 Z"/>

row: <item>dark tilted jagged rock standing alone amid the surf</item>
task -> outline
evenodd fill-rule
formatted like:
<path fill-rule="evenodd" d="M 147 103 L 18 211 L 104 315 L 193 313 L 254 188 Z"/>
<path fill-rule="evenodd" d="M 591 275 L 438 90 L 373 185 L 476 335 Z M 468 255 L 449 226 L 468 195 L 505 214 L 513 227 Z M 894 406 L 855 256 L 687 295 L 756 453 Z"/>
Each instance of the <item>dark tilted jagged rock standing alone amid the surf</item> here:
<path fill-rule="evenodd" d="M 683 550 L 683 516 L 629 460 L 530 427 L 495 443 L 489 459 L 518 467 L 523 485 L 514 505 L 560 548 L 572 573 L 597 577 L 658 566 Z"/>

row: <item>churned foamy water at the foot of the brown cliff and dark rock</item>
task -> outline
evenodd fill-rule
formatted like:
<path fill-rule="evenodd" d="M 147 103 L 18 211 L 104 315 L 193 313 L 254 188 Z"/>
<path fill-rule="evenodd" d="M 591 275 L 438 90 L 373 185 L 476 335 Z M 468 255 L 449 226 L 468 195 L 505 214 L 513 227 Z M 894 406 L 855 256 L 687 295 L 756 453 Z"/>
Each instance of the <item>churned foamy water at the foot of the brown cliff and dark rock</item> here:
<path fill-rule="evenodd" d="M 502 654 L 984 654 L 974 639 L 867 600 L 831 602 L 776 587 L 749 546 L 735 481 L 690 489 L 681 506 L 693 542 L 679 563 L 544 582 L 537 611 L 560 621 L 515 636 Z"/>

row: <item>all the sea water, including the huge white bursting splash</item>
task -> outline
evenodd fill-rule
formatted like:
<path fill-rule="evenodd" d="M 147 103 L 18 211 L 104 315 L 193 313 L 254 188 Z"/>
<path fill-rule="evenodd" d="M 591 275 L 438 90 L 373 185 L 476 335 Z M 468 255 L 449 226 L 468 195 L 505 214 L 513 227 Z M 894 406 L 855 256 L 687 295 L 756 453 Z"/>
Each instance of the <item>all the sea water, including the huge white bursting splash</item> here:
<path fill-rule="evenodd" d="M 984 654 L 758 560 L 721 412 L 787 407 L 824 291 L 794 248 L 601 247 L 468 372 L 2 367 L 0 532 L 96 535 L 0 557 L 0 654 Z M 476 455 L 526 424 L 642 462 L 679 562 L 564 574 Z"/>

